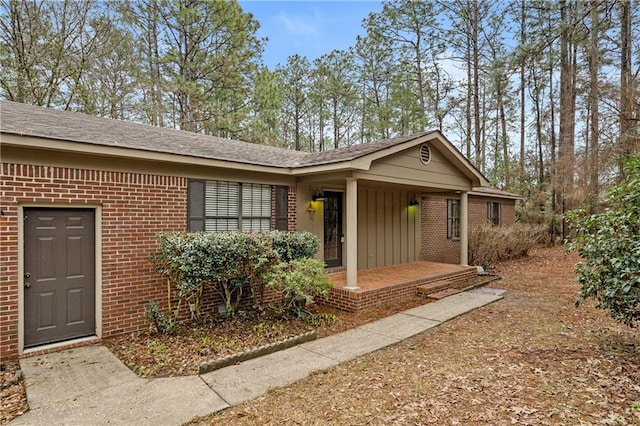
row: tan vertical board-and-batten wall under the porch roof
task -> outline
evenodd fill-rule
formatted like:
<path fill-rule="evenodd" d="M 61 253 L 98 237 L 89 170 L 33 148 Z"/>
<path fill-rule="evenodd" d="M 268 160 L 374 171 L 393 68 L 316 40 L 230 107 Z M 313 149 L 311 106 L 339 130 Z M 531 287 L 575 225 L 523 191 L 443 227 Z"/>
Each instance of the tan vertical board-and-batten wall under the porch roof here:
<path fill-rule="evenodd" d="M 358 191 L 358 269 L 408 263 L 420 256 L 420 209 L 404 191 Z"/>

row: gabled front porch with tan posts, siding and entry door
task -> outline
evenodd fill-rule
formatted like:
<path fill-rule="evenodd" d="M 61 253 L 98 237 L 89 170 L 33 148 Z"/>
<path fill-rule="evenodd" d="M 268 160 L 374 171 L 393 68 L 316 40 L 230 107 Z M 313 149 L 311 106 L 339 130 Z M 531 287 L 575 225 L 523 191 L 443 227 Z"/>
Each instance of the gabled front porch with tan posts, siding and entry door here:
<path fill-rule="evenodd" d="M 336 292 L 353 292 L 349 298 L 371 293 L 372 277 L 389 265 L 416 269 L 417 276 L 382 287 L 378 282 L 377 292 L 399 283 L 406 287 L 406 282 L 429 281 L 422 268 L 407 265 L 425 260 L 423 243 L 433 232 L 448 232 L 448 226 L 455 229 L 455 235 L 447 237 L 455 246 L 448 247 L 459 250 L 452 263 L 467 267 L 469 192 L 486 178 L 440 133 L 394 138 L 324 156 L 326 164 L 296 171 L 296 221 L 299 230 L 319 236 L 318 258 L 328 268 L 344 268 L 331 277 Z M 428 194 L 456 200 L 451 212 L 447 205 L 439 212 L 443 223 L 432 224 L 423 217 L 429 206 L 422 200 Z M 445 274 L 442 268 L 432 264 L 433 272 L 427 275 Z M 447 273 L 452 272 L 459 270 Z M 356 305 L 363 303 L 367 305 Z"/>

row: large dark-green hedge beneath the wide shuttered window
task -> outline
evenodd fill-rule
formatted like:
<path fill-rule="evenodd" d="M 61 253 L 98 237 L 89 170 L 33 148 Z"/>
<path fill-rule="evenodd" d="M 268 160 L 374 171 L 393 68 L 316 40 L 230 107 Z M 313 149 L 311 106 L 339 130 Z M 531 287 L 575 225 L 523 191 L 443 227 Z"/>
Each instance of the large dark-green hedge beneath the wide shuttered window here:
<path fill-rule="evenodd" d="M 189 303 L 193 319 L 201 319 L 205 287 L 220 294 L 228 316 L 235 315 L 247 292 L 261 304 L 266 278 L 272 277 L 267 274 L 281 270 L 282 264 L 310 259 L 319 243 L 310 232 L 171 232 L 158 235 L 157 248 L 151 261 L 167 278 L 169 315 L 175 321 L 183 303 Z M 322 263 L 314 262 L 322 270 Z M 290 268 L 292 273 L 295 269 Z M 172 309 L 174 289 L 179 297 Z"/>

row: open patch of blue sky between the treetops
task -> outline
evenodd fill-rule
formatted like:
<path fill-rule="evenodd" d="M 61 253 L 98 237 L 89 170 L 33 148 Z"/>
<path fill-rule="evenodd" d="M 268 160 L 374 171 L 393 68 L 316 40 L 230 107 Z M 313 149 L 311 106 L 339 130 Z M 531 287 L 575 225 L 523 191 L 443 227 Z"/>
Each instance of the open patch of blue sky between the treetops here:
<path fill-rule="evenodd" d="M 287 57 L 299 54 L 312 62 L 334 49 L 347 49 L 364 35 L 362 20 L 382 10 L 380 1 L 272 1 L 238 2 L 260 22 L 259 37 L 269 39 L 264 62 L 273 70 Z"/>

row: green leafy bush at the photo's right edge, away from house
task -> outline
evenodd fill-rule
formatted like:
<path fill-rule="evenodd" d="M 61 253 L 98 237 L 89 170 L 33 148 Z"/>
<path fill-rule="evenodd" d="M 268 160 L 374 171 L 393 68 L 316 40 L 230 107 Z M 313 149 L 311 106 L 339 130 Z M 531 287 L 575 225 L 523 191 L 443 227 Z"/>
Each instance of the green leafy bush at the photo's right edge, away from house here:
<path fill-rule="evenodd" d="M 625 167 L 626 179 L 611 188 L 602 213 L 578 209 L 566 215 L 574 232 L 569 251 L 584 262 L 575 273 L 582 285 L 576 305 L 595 299 L 598 308 L 629 327 L 640 321 L 640 157 Z"/>

